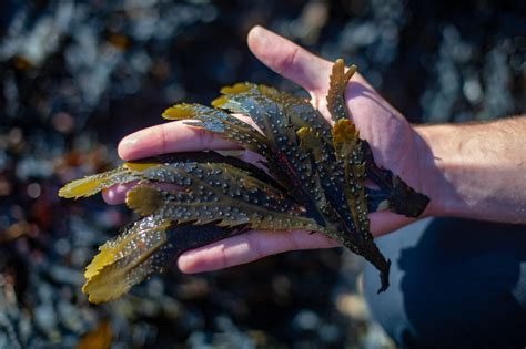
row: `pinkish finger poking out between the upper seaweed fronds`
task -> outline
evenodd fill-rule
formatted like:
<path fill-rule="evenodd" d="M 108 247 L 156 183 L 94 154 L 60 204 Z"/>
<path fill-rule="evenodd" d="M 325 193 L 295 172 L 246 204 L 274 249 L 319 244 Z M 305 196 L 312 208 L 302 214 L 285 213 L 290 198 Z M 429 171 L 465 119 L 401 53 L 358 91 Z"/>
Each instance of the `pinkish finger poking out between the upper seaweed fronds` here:
<path fill-rule="evenodd" d="M 125 136 L 119 143 L 119 156 L 131 161 L 173 152 L 236 150 L 220 135 L 174 121 L 148 127 Z"/>

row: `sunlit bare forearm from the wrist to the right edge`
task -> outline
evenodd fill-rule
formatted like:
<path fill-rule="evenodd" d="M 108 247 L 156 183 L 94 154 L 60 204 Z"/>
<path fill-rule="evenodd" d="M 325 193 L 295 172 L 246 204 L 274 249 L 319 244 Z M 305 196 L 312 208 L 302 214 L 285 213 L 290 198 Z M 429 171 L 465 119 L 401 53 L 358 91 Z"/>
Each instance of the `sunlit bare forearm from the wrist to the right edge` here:
<path fill-rule="evenodd" d="M 526 224 L 526 116 L 416 131 L 432 214 Z"/>

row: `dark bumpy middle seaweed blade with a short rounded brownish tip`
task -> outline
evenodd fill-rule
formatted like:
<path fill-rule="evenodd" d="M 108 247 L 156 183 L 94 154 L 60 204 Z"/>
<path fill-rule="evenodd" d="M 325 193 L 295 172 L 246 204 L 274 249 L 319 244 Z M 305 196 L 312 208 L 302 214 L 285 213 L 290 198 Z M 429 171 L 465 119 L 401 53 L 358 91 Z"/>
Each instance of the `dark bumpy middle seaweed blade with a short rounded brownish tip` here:
<path fill-rule="evenodd" d="M 166 193 L 136 186 L 128 193 L 127 204 L 141 215 L 160 212 L 179 223 L 250 224 L 269 230 L 324 229 L 305 216 L 304 208 L 286 193 L 241 168 L 224 163 L 179 166 L 189 179 L 183 191 Z"/>

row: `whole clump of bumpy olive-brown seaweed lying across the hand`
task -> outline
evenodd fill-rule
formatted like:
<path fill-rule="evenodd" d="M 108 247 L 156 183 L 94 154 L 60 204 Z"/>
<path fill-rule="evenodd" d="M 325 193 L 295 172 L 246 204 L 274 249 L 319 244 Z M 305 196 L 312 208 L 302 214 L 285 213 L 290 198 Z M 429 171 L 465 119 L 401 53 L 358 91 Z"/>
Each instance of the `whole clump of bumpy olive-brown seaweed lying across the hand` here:
<path fill-rule="evenodd" d="M 92 302 L 117 299 L 182 252 L 249 229 L 318 232 L 371 261 L 388 287 L 390 260 L 374 244 L 368 212 L 416 217 L 428 198 L 374 163 L 347 115 L 344 92 L 355 66 L 333 65 L 327 106 L 331 125 L 301 97 L 237 83 L 221 90 L 213 107 L 178 104 L 163 117 L 216 133 L 262 156 L 261 167 L 216 152 L 189 152 L 128 162 L 73 181 L 62 197 L 91 196 L 138 182 L 127 205 L 141 218 L 100 247 L 85 269 Z M 257 129 L 232 116 L 249 115 Z M 365 186 L 365 179 L 377 189 Z M 173 186 L 160 189 L 160 183 Z"/>

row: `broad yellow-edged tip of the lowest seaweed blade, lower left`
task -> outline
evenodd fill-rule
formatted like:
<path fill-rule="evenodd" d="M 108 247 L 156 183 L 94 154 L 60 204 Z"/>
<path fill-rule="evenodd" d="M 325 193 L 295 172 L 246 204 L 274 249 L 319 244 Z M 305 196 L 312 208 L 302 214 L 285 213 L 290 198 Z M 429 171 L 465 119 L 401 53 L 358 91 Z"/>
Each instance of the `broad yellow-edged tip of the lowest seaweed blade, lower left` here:
<path fill-rule="evenodd" d="M 89 301 L 114 300 L 156 271 L 155 253 L 165 244 L 169 226 L 170 220 L 152 222 L 146 227 L 135 223 L 127 235 L 104 244 L 85 269 L 82 291 Z"/>

